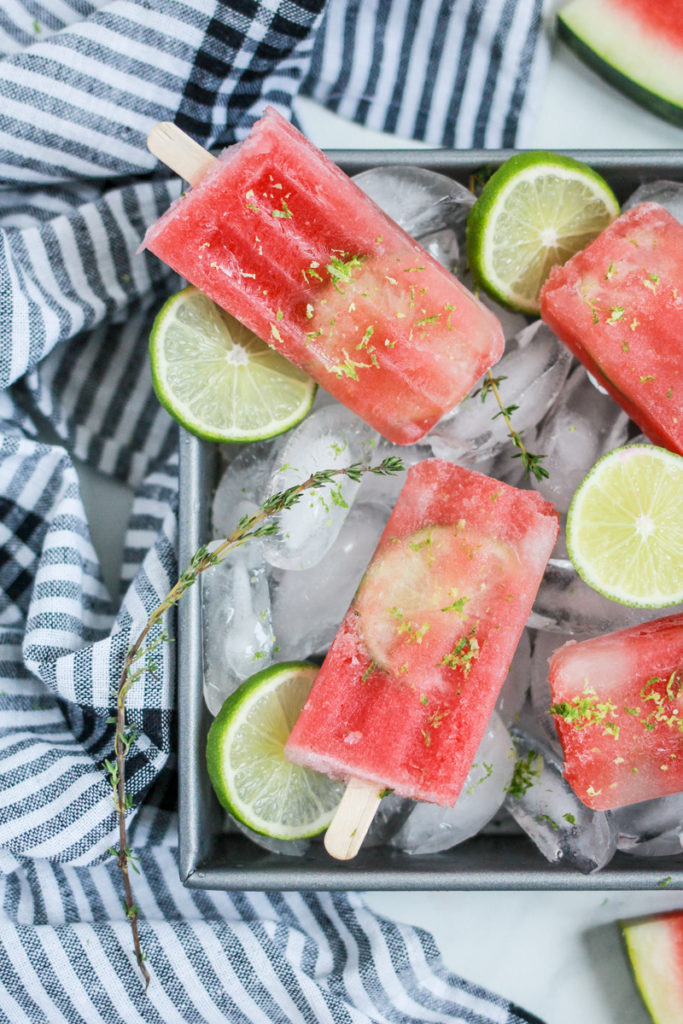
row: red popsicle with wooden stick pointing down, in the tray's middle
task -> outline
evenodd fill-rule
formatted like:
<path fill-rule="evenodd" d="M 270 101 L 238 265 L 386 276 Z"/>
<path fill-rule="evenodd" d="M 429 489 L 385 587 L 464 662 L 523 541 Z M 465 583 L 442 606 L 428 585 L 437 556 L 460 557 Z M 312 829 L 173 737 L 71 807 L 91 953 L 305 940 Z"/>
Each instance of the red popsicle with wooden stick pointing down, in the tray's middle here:
<path fill-rule="evenodd" d="M 558 528 L 535 492 L 438 459 L 409 471 L 286 748 L 351 779 L 334 856 L 356 852 L 354 814 L 367 798 L 372 820 L 384 788 L 455 804 Z"/>

